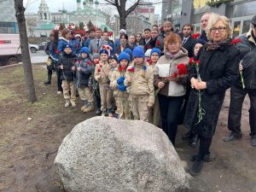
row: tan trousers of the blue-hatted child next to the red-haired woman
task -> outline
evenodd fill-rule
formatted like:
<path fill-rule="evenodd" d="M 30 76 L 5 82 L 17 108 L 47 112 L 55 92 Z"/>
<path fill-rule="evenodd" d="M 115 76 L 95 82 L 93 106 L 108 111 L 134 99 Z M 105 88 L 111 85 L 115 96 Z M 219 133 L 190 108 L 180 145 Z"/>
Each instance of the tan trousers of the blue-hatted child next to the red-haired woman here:
<path fill-rule="evenodd" d="M 149 108 L 148 95 L 145 96 L 129 96 L 131 113 L 135 120 L 143 120 L 148 122 Z"/>

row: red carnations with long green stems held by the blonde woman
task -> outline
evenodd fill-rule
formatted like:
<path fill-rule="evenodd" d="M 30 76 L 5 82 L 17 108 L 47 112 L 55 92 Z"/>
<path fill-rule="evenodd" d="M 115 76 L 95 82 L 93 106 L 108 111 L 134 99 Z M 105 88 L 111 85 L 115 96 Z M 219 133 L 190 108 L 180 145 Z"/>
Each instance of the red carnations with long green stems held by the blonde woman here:
<path fill-rule="evenodd" d="M 200 65 L 200 61 L 199 60 L 195 60 L 194 57 L 191 57 L 189 59 L 189 65 L 194 66 L 195 70 L 196 70 L 196 79 L 200 82 L 201 81 L 201 77 L 200 77 L 200 73 L 199 73 L 199 65 Z M 192 87 L 194 88 L 194 87 Z M 203 91 L 198 90 L 198 112 L 197 112 L 197 117 L 198 117 L 198 122 L 196 124 L 199 124 L 203 118 L 203 115 L 206 114 L 205 110 L 201 107 L 201 96 L 203 94 Z"/>

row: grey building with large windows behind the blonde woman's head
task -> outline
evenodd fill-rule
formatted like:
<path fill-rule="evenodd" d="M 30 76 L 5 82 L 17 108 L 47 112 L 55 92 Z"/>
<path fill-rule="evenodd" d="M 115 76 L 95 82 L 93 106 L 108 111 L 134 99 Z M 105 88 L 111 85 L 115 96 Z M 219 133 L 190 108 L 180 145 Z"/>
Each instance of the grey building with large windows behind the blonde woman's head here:
<path fill-rule="evenodd" d="M 225 15 L 230 19 L 234 31 L 233 38 L 249 30 L 250 20 L 253 15 L 256 15 L 255 0 L 234 0 L 230 3 L 220 3 L 220 0 L 211 1 L 219 3 L 218 6 L 207 5 L 207 0 L 178 0 L 163 3 L 162 23 L 170 20 L 173 26 L 179 27 L 191 23 L 194 26 L 194 32 L 201 32 L 201 16 L 206 12 L 212 12 Z"/>

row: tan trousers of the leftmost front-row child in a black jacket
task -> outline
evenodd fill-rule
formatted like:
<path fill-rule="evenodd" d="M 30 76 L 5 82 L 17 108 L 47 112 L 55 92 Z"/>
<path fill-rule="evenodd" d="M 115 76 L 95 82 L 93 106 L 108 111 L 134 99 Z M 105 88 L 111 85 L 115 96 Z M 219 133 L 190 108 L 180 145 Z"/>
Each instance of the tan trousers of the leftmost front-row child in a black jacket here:
<path fill-rule="evenodd" d="M 76 88 L 73 81 L 62 80 L 63 96 L 66 100 L 70 100 L 71 103 L 76 102 Z M 70 91 L 70 94 L 69 94 Z"/>

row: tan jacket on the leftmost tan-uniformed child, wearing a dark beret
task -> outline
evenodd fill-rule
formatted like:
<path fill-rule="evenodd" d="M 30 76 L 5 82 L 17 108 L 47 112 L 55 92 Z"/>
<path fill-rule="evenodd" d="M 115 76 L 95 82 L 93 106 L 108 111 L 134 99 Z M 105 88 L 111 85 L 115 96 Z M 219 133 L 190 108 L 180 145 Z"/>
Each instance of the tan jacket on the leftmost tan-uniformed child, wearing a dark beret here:
<path fill-rule="evenodd" d="M 94 78 L 99 84 L 109 84 L 108 73 L 111 70 L 111 66 L 108 62 L 100 61 L 99 64 L 96 64 Z"/>

